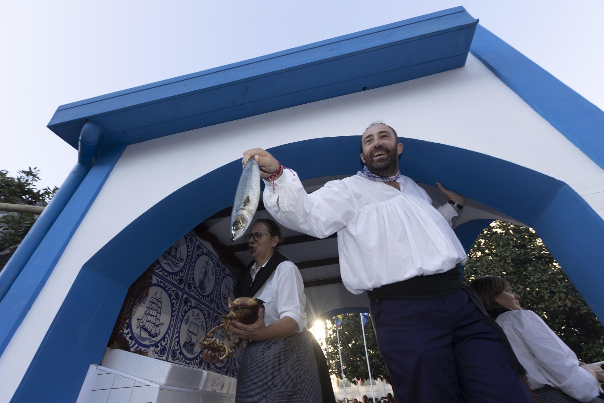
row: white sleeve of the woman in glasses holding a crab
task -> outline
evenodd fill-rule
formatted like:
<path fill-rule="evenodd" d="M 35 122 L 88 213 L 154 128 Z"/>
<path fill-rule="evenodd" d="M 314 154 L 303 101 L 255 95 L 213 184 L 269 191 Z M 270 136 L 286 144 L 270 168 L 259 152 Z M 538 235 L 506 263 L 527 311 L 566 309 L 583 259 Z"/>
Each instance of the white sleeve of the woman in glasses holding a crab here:
<path fill-rule="evenodd" d="M 289 260 L 281 262 L 277 275 L 277 313 L 279 319 L 289 316 L 298 324 L 298 332 L 306 326 L 306 297 L 304 281 L 298 267 Z"/>

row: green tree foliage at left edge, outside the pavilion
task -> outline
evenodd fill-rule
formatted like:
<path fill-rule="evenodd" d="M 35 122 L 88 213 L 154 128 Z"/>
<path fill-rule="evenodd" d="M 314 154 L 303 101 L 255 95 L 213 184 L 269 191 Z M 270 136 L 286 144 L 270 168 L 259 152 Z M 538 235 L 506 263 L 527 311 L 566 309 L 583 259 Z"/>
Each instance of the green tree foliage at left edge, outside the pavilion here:
<path fill-rule="evenodd" d="M 36 189 L 40 180 L 40 171 L 36 168 L 23 169 L 16 177 L 8 171 L 0 170 L 0 203 L 46 206 L 59 188 Z M 0 212 L 0 270 L 16 250 L 37 216 Z"/>

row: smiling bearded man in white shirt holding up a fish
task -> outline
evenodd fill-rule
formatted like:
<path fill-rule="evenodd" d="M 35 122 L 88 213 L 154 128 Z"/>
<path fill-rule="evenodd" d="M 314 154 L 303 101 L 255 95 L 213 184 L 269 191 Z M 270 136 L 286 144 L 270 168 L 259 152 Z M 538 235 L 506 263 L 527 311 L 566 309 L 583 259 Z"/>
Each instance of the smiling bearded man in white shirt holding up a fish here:
<path fill-rule="evenodd" d="M 437 183 L 449 202 L 433 208 L 400 175 L 402 152 L 393 128 L 372 123 L 361 136 L 362 171 L 312 194 L 263 149 L 243 152 L 242 163 L 258 163 L 264 205 L 278 222 L 318 238 L 338 232 L 342 282 L 352 293 L 367 291 L 400 399 L 532 402 L 505 335 L 461 281 L 467 255 L 451 219 L 466 198 Z"/>

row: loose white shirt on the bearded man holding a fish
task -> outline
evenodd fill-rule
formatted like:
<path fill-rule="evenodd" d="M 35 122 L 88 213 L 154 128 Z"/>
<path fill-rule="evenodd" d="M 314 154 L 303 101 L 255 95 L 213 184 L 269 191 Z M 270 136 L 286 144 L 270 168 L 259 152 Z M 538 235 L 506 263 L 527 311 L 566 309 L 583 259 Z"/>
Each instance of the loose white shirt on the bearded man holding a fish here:
<path fill-rule="evenodd" d="M 355 294 L 465 264 L 451 229 L 455 209 L 449 203 L 432 207 L 409 177 L 397 182 L 400 191 L 355 175 L 307 194 L 298 175 L 285 169 L 275 189 L 266 185 L 263 201 L 287 228 L 317 238 L 338 232 L 342 282 Z"/>

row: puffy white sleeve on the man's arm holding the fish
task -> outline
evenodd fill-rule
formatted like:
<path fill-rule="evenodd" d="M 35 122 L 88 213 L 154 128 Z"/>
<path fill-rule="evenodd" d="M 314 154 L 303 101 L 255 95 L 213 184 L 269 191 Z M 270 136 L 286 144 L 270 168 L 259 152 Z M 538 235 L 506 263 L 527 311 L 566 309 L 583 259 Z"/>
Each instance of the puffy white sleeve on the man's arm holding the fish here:
<path fill-rule="evenodd" d="M 298 175 L 284 169 L 273 184 L 265 182 L 263 201 L 266 210 L 286 228 L 317 238 L 329 237 L 355 217 L 352 192 L 342 180 L 307 194 Z"/>

